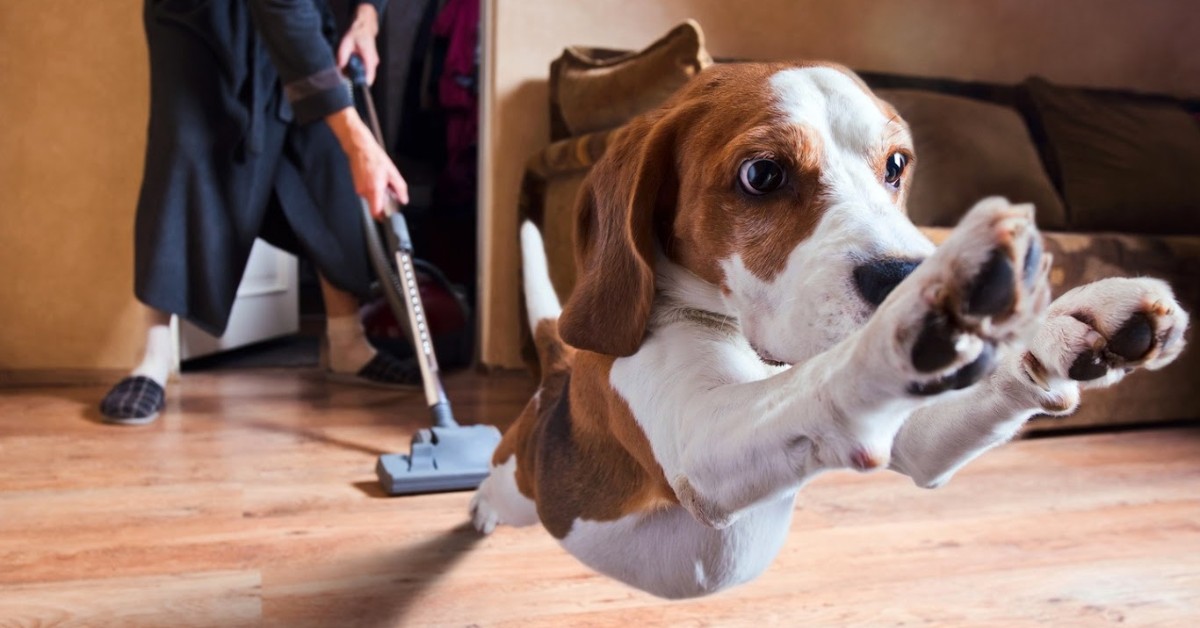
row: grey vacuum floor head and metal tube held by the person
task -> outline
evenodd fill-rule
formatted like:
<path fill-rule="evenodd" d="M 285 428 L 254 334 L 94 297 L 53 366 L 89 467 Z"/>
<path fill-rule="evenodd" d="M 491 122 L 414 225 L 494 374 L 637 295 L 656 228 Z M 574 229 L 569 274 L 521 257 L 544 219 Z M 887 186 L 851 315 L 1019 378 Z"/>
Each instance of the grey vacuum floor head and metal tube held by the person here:
<path fill-rule="evenodd" d="M 347 66 L 355 106 L 367 121 L 376 140 L 385 146 L 379 118 L 367 89 L 362 60 L 354 55 Z M 458 425 L 438 372 L 433 336 L 425 319 L 425 307 L 413 268 L 413 240 L 408 222 L 394 199 L 388 201 L 386 225 L 380 226 L 362 202 L 362 227 L 367 256 L 396 319 L 413 343 L 421 370 L 425 401 L 433 425 L 413 436 L 408 454 L 384 454 L 376 463 L 379 485 L 388 495 L 413 495 L 473 490 L 491 467 L 492 453 L 500 443 L 500 431 L 492 425 Z M 379 232 L 383 232 L 380 239 Z M 392 262 L 394 261 L 394 262 Z"/>

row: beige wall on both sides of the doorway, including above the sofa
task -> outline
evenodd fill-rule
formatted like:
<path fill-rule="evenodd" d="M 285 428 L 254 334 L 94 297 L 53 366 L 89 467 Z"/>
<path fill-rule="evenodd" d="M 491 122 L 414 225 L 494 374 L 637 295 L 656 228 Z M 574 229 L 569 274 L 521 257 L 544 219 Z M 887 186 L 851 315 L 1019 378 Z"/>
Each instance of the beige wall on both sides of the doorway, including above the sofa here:
<path fill-rule="evenodd" d="M 520 365 L 515 208 L 564 46 L 637 48 L 694 17 L 714 55 L 1200 95 L 1192 0 L 484 0 L 482 347 Z M 132 220 L 146 118 L 142 0 L 0 1 L 0 371 L 124 369 L 142 321 Z"/>

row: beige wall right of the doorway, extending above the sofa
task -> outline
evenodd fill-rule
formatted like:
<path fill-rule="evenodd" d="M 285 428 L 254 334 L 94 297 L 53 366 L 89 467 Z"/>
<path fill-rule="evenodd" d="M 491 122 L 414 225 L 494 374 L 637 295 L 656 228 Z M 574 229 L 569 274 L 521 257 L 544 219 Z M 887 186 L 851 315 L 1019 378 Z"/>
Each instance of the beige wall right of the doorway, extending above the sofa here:
<path fill-rule="evenodd" d="M 546 72 L 570 44 L 641 48 L 697 19 L 714 56 L 829 59 L 860 70 L 1200 96 L 1194 0 L 484 0 L 482 346 L 520 366 L 516 198 L 548 138 Z"/>

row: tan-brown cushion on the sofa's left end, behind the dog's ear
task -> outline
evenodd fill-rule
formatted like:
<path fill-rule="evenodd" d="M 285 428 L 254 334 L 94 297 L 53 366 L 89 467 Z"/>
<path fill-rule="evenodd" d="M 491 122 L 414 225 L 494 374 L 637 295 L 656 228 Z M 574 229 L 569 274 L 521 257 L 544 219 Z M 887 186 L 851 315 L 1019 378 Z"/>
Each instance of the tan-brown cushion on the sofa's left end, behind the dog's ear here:
<path fill-rule="evenodd" d="M 641 52 L 566 48 L 550 66 L 551 137 L 616 128 L 712 64 L 704 34 L 690 19 Z"/>

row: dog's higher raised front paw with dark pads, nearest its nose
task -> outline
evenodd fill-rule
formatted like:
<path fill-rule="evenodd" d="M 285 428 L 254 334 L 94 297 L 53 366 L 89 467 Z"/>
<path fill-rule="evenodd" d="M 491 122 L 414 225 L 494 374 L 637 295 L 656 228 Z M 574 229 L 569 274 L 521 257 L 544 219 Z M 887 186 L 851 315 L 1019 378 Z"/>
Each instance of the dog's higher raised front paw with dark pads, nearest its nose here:
<path fill-rule="evenodd" d="M 1049 262 L 1032 205 L 977 204 L 889 304 L 907 391 L 935 395 L 991 372 L 998 346 L 1031 335 L 1050 303 Z"/>

